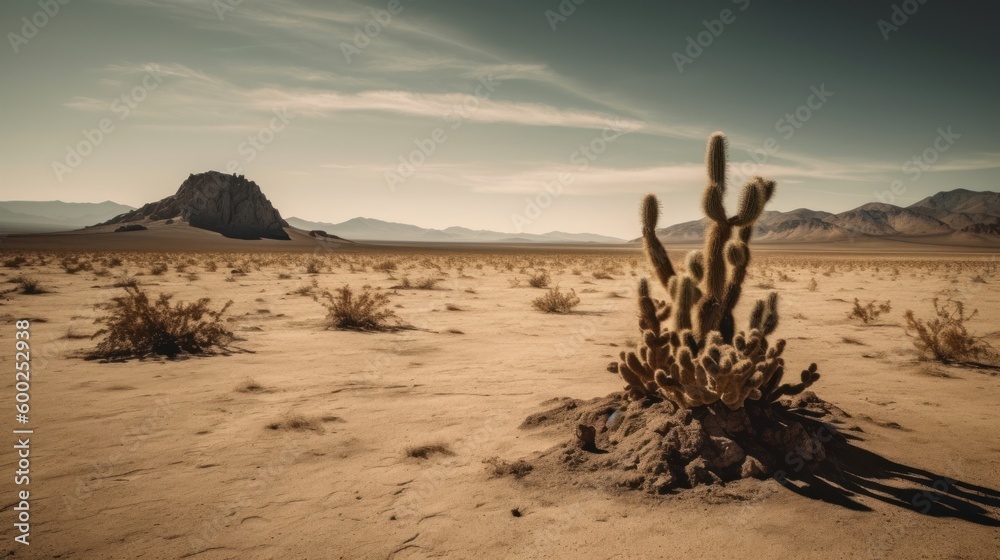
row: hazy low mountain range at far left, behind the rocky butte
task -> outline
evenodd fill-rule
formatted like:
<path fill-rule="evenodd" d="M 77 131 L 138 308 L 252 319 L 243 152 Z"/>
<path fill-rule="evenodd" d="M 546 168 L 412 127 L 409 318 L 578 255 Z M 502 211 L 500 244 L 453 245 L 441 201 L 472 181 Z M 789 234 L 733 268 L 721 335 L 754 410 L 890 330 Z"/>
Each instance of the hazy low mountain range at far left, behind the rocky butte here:
<path fill-rule="evenodd" d="M 115 202 L 0 202 L 0 233 L 69 231 L 104 222 L 133 210 Z"/>

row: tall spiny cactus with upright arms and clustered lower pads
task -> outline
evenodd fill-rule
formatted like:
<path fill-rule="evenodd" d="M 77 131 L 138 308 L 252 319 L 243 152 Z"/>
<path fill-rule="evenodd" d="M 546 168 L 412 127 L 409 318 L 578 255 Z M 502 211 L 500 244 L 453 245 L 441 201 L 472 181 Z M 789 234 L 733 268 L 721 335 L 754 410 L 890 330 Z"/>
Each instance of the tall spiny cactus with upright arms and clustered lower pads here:
<path fill-rule="evenodd" d="M 635 351 L 622 352 L 617 370 L 633 399 L 669 400 L 682 408 L 723 403 L 732 410 L 749 403 L 768 405 L 812 385 L 816 364 L 802 372 L 801 382 L 782 383 L 785 341 L 767 340 L 778 326 L 778 294 L 756 302 L 748 331 L 736 331 L 733 310 L 739 302 L 754 224 L 774 195 L 774 181 L 750 179 L 739 208 L 727 215 L 726 139 L 713 134 L 706 154 L 708 185 L 702 208 L 708 217 L 705 248 L 687 255 L 678 274 L 656 236 L 659 201 L 642 203 L 642 237 L 646 255 L 668 300 L 655 299 L 649 282 L 639 284 L 639 328 Z"/>

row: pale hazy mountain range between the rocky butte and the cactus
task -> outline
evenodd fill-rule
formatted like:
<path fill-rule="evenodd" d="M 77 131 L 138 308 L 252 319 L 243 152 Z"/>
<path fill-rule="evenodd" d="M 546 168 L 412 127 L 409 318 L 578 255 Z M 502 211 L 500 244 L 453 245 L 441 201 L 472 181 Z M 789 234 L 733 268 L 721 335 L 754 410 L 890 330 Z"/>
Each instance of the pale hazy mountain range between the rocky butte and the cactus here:
<path fill-rule="evenodd" d="M 339 224 L 288 218 L 289 225 L 304 230 L 323 230 L 353 241 L 423 241 L 447 243 L 622 243 L 623 239 L 593 233 L 551 231 L 543 234 L 502 233 L 482 229 L 450 227 L 428 229 L 372 218 L 352 218 Z"/>

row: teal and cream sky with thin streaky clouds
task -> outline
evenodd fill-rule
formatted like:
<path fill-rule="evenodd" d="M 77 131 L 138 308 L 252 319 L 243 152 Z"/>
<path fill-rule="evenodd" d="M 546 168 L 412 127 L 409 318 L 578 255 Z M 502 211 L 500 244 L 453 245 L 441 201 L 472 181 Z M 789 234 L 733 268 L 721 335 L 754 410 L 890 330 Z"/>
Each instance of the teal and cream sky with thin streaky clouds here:
<path fill-rule="evenodd" d="M 0 200 L 140 206 L 214 169 L 285 217 L 634 238 L 647 192 L 662 225 L 700 217 L 716 130 L 730 183 L 777 181 L 772 210 L 1000 179 L 995 3 L 34 0 L 0 15 Z"/>

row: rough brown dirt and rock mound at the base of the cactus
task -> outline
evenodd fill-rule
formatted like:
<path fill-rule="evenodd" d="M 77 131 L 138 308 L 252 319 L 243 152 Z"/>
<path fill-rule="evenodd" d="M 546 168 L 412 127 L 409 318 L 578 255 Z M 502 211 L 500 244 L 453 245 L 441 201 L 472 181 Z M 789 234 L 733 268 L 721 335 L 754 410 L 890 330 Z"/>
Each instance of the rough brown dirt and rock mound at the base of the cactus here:
<path fill-rule="evenodd" d="M 613 487 L 663 494 L 743 478 L 780 480 L 816 469 L 827 458 L 825 444 L 836 437 L 831 424 L 846 418 L 812 392 L 739 410 L 678 408 L 615 393 L 588 402 L 561 399 L 521 428 L 576 431 L 574 440 L 533 457 L 529 462 L 536 470 L 590 473 Z"/>

